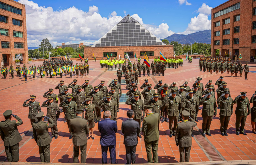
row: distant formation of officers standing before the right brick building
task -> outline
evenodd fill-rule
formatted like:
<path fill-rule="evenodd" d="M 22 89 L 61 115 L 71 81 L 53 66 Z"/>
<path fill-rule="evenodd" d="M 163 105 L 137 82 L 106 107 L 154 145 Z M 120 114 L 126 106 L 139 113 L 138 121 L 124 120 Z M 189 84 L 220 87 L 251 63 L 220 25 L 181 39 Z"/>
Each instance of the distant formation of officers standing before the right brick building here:
<path fill-rule="evenodd" d="M 235 77 L 237 77 L 237 74 L 240 74 L 240 77 L 242 77 L 243 71 L 245 72 L 245 79 L 247 79 L 248 72 L 249 72 L 249 66 L 246 62 L 243 66 L 242 62 L 231 62 L 230 58 L 200 58 L 199 60 L 199 67 L 200 71 L 207 72 L 210 74 L 213 74 L 216 72 L 218 74 L 219 72 L 221 74 L 224 74 L 224 72 L 227 72 L 227 74 L 231 74 L 231 77 L 233 77 L 233 74 L 235 74 Z"/>

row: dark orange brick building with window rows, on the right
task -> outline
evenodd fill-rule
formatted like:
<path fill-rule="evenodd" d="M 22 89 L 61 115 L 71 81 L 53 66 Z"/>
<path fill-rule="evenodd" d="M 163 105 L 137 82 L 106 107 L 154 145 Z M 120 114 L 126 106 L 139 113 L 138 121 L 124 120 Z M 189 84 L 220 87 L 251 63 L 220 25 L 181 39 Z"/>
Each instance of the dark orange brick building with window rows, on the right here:
<path fill-rule="evenodd" d="M 211 55 L 242 55 L 250 61 L 256 55 L 256 1 L 229 0 L 212 9 Z"/>

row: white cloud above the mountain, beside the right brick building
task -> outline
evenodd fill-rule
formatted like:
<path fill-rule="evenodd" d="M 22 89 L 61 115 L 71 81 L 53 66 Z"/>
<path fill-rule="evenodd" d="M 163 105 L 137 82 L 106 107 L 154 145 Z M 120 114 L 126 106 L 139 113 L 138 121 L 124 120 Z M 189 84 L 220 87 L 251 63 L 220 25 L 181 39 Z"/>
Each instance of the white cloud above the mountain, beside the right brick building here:
<path fill-rule="evenodd" d="M 203 3 L 197 12 L 199 12 L 198 16 L 191 18 L 187 29 L 181 34 L 190 34 L 198 31 L 211 29 L 212 20 L 209 20 L 208 17 L 212 13 L 212 7 L 209 7 L 208 5 Z"/>

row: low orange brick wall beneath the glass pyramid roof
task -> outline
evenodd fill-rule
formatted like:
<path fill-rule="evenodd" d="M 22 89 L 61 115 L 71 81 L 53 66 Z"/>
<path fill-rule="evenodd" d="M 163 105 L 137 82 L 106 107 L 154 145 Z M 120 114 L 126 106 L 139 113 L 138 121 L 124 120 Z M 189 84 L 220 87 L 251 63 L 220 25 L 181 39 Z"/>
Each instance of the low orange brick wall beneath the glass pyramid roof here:
<path fill-rule="evenodd" d="M 110 47 L 84 47 L 84 58 L 93 57 L 93 53 L 95 57 L 103 57 L 103 52 L 117 52 L 117 57 L 119 55 L 121 58 L 124 58 L 124 52 L 134 52 L 136 53 L 136 57 L 143 58 L 140 56 L 141 51 L 154 51 L 154 56 L 158 57 L 161 53 L 164 57 L 173 57 L 173 45 L 159 45 L 159 46 L 110 46 Z M 106 58 L 106 57 L 104 57 Z"/>

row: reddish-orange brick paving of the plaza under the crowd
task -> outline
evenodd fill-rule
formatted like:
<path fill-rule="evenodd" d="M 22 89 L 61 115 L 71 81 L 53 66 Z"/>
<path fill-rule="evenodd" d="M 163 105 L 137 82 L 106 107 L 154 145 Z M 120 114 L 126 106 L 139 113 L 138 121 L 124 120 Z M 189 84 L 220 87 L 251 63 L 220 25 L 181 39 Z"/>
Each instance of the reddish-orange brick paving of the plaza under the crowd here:
<path fill-rule="evenodd" d="M 151 63 L 152 60 L 150 60 Z M 77 61 L 78 63 L 80 61 Z M 183 67 L 178 69 L 167 68 L 166 76 L 156 76 L 156 77 L 139 77 L 138 86 L 144 83 L 144 79 L 149 79 L 149 83 L 155 85 L 159 80 L 163 80 L 163 83 L 171 85 L 172 82 L 176 82 L 176 86 L 182 85 L 185 81 L 188 81 L 188 85 L 191 87 L 195 82 L 197 77 L 202 77 L 201 81 L 204 86 L 209 81 L 212 80 L 213 83 L 221 76 L 220 74 L 206 74 L 199 71 L 199 60 L 193 59 L 193 63 L 188 63 L 184 59 Z M 76 63 L 74 61 L 74 63 Z M 42 62 L 33 62 L 36 66 L 42 64 Z M 30 64 L 27 64 L 27 68 Z M 90 70 L 89 75 L 84 76 L 84 78 L 76 78 L 73 76 L 60 76 L 50 78 L 50 76 L 45 76 L 39 78 L 36 74 L 36 78 L 29 77 L 28 81 L 24 81 L 24 78 L 18 77 L 14 73 L 14 79 L 11 79 L 10 74 L 6 79 L 3 76 L 0 77 L 0 92 L 1 92 L 1 102 L 0 102 L 0 118 L 4 120 L 2 113 L 11 109 L 13 114 L 18 115 L 22 120 L 23 124 L 19 126 L 19 132 L 23 137 L 23 141 L 20 142 L 20 162 L 40 162 L 38 146 L 34 139 L 31 139 L 32 128 L 30 125 L 30 120 L 28 119 L 28 107 L 22 107 L 25 100 L 30 98 L 30 95 L 35 95 L 36 101 L 40 104 L 46 100 L 43 98 L 43 94 L 48 91 L 49 88 L 53 88 L 59 84 L 60 80 L 64 80 L 64 84 L 68 85 L 77 79 L 79 85 L 82 85 L 86 80 L 90 80 L 91 85 L 96 86 L 101 80 L 105 80 L 105 85 L 108 86 L 112 79 L 116 78 L 116 71 L 109 71 L 107 69 L 101 69 L 99 61 L 89 61 Z M 256 64 L 249 63 L 249 70 L 256 72 Z M 243 77 L 230 77 L 227 73 L 224 74 L 224 81 L 227 82 L 227 88 L 230 89 L 231 97 L 234 99 L 242 91 L 247 91 L 247 97 L 250 99 L 255 88 L 256 74 L 249 72 L 248 80 Z M 122 78 L 124 79 L 124 78 Z M 215 87 L 216 89 L 216 87 Z M 140 90 L 142 91 L 142 90 Z M 58 94 L 58 90 L 54 90 L 55 94 Z M 71 89 L 69 89 L 71 93 Z M 122 93 L 125 95 L 126 89 L 125 84 L 122 84 Z M 252 106 L 252 104 L 251 104 Z M 236 105 L 234 105 L 235 110 Z M 125 145 L 123 144 L 123 135 L 121 133 L 121 123 L 127 120 L 126 112 L 130 109 L 130 106 L 126 105 L 125 102 L 120 103 L 120 111 L 117 113 L 117 126 L 118 132 L 116 133 L 116 159 L 117 163 L 126 163 L 125 155 Z M 46 108 L 42 108 L 42 111 L 46 114 Z M 103 116 L 103 112 L 102 112 Z M 190 162 L 204 162 L 204 161 L 224 161 L 224 160 L 255 160 L 256 159 L 256 135 L 252 133 L 251 127 L 251 116 L 248 116 L 245 132 L 247 136 L 240 134 L 237 136 L 235 134 L 235 114 L 231 116 L 228 128 L 228 136 L 221 136 L 220 134 L 220 120 L 219 120 L 219 110 L 216 117 L 213 117 L 211 124 L 211 137 L 203 137 L 200 132 L 202 132 L 202 116 L 201 111 L 198 114 L 199 123 L 197 127 L 194 128 L 193 144 L 191 149 Z M 52 163 L 72 163 L 73 162 L 73 144 L 72 139 L 69 140 L 70 134 L 68 133 L 67 123 L 64 123 L 64 114 L 61 113 L 58 119 L 58 139 L 52 139 L 50 145 L 51 151 L 51 162 Z M 179 148 L 175 144 L 175 137 L 169 138 L 169 124 L 167 122 L 160 122 L 160 138 L 158 147 L 158 159 L 159 163 L 175 163 L 179 162 Z M 50 133 L 51 134 L 51 133 Z M 94 137 L 95 139 L 89 139 L 87 143 L 87 160 L 86 163 L 101 163 L 101 146 L 100 133 L 98 132 L 98 124 L 94 127 Z M 136 163 L 147 163 L 147 155 L 144 145 L 143 133 L 142 139 L 139 139 L 139 143 L 136 149 Z M 0 161 L 5 160 L 5 152 L 3 142 L 0 143 Z M 109 158 L 108 153 L 108 158 Z M 80 158 L 79 158 L 80 159 Z M 109 161 L 110 162 L 110 161 Z"/>

